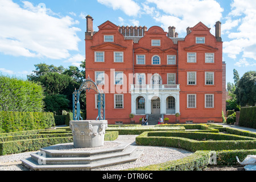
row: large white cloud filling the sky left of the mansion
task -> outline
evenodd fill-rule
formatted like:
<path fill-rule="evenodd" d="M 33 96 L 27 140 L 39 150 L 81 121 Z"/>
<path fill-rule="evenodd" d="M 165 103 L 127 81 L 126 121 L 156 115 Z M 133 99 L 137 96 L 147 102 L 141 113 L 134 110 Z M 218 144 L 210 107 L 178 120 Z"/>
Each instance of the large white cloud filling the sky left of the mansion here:
<path fill-rule="evenodd" d="M 55 16 L 53 16 L 55 15 Z M 0 52 L 6 55 L 67 59 L 69 51 L 78 50 L 76 35 L 79 22 L 60 17 L 47 9 L 24 1 L 23 7 L 11 0 L 1 0 Z"/>

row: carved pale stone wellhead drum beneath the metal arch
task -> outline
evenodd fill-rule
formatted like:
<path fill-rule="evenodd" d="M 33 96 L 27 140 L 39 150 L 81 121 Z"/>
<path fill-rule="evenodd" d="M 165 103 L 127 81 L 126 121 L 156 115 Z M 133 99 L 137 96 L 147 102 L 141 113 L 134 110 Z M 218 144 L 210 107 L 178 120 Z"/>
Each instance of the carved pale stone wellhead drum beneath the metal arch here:
<path fill-rule="evenodd" d="M 74 147 L 99 147 L 104 145 L 108 121 L 70 121 L 69 127 L 72 130 Z"/>

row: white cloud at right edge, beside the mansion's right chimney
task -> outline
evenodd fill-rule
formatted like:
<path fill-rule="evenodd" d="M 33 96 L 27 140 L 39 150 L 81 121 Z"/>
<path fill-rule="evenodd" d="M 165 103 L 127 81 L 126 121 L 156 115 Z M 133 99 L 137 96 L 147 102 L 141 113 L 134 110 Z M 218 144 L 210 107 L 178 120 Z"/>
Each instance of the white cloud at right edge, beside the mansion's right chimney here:
<path fill-rule="evenodd" d="M 232 40 L 223 44 L 223 52 L 228 53 L 228 56 L 233 59 L 236 58 L 237 55 L 242 54 L 242 57 L 256 60 L 255 1 L 234 0 L 232 3 L 232 11 L 228 15 L 228 20 L 240 23 L 237 26 L 237 30 L 229 30 L 228 38 Z M 246 63 L 240 60 L 237 65 L 246 65 Z"/>

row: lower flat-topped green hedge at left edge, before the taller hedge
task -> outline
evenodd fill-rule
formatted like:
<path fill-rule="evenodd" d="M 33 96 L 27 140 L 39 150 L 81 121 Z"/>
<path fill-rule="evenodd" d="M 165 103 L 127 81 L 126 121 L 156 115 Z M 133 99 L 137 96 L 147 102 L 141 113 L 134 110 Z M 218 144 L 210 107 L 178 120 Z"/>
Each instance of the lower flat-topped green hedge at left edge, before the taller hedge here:
<path fill-rule="evenodd" d="M 49 129 L 55 126 L 53 113 L 0 111 L 0 133 Z"/>

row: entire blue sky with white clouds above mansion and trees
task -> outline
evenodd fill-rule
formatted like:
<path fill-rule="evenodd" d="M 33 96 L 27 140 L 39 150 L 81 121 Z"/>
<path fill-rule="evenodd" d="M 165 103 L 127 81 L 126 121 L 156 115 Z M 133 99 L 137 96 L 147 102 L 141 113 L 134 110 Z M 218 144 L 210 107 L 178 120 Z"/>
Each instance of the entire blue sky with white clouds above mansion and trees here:
<path fill-rule="evenodd" d="M 0 72 L 26 78 L 39 63 L 79 66 L 85 59 L 85 16 L 93 16 L 94 31 L 110 20 L 124 26 L 175 26 L 185 29 L 203 22 L 222 22 L 226 82 L 233 69 L 240 77 L 256 70 L 255 0 L 1 0 Z"/>

